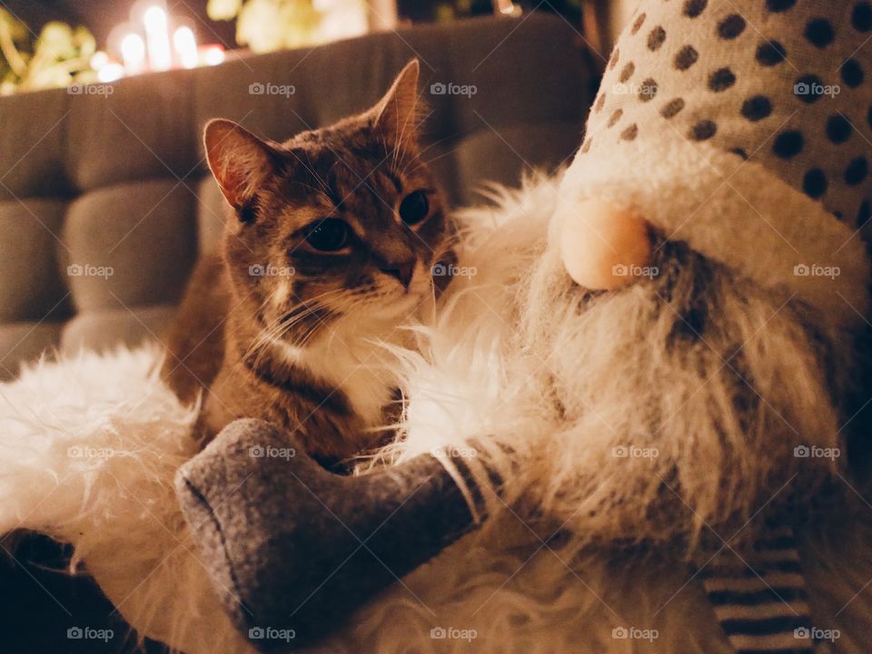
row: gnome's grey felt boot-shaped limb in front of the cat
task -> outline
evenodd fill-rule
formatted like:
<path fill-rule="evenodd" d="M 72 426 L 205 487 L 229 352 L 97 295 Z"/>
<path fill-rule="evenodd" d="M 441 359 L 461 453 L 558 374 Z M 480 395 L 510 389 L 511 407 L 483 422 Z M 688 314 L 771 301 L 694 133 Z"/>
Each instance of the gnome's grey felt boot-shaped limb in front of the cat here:
<path fill-rule="evenodd" d="M 346 477 L 251 419 L 228 425 L 185 464 L 176 490 L 224 609 L 264 652 L 326 637 L 474 526 L 431 454 Z"/>

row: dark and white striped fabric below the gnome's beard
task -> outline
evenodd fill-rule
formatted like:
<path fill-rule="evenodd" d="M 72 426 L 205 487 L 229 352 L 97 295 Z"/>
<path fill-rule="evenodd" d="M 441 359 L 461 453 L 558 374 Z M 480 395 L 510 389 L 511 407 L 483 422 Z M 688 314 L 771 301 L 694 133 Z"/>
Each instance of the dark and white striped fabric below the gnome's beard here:
<path fill-rule="evenodd" d="M 728 547 L 699 571 L 737 654 L 813 654 L 808 595 L 790 527 L 771 529 L 754 552 Z"/>

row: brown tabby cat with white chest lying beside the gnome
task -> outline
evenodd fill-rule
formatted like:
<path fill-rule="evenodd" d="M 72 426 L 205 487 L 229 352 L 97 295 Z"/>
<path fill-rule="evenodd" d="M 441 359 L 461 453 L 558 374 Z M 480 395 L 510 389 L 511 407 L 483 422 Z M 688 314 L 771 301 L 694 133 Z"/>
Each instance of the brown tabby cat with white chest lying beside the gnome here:
<path fill-rule="evenodd" d="M 407 64 L 369 111 L 282 144 L 206 125 L 233 217 L 194 271 L 163 367 L 184 401 L 206 391 L 206 439 L 256 417 L 326 459 L 377 444 L 397 384 L 376 341 L 404 344 L 451 256 L 416 134 L 418 71 Z"/>

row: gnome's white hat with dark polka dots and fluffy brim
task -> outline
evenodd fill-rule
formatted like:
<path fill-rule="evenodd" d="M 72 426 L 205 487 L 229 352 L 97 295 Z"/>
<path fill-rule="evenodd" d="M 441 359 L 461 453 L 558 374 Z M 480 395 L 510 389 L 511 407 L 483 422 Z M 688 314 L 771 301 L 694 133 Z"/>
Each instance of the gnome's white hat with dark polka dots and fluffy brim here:
<path fill-rule="evenodd" d="M 632 205 L 850 322 L 867 311 L 870 165 L 872 2 L 643 0 L 561 195 Z"/>

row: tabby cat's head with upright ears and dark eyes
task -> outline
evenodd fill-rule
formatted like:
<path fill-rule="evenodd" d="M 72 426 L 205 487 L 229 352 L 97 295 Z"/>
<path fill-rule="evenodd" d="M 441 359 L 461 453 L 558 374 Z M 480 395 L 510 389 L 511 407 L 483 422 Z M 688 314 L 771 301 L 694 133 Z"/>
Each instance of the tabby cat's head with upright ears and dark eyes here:
<path fill-rule="evenodd" d="M 396 324 L 432 296 L 449 229 L 420 156 L 418 70 L 406 65 L 370 110 L 281 144 L 206 125 L 233 207 L 223 247 L 235 300 L 292 343 L 341 317 Z"/>

